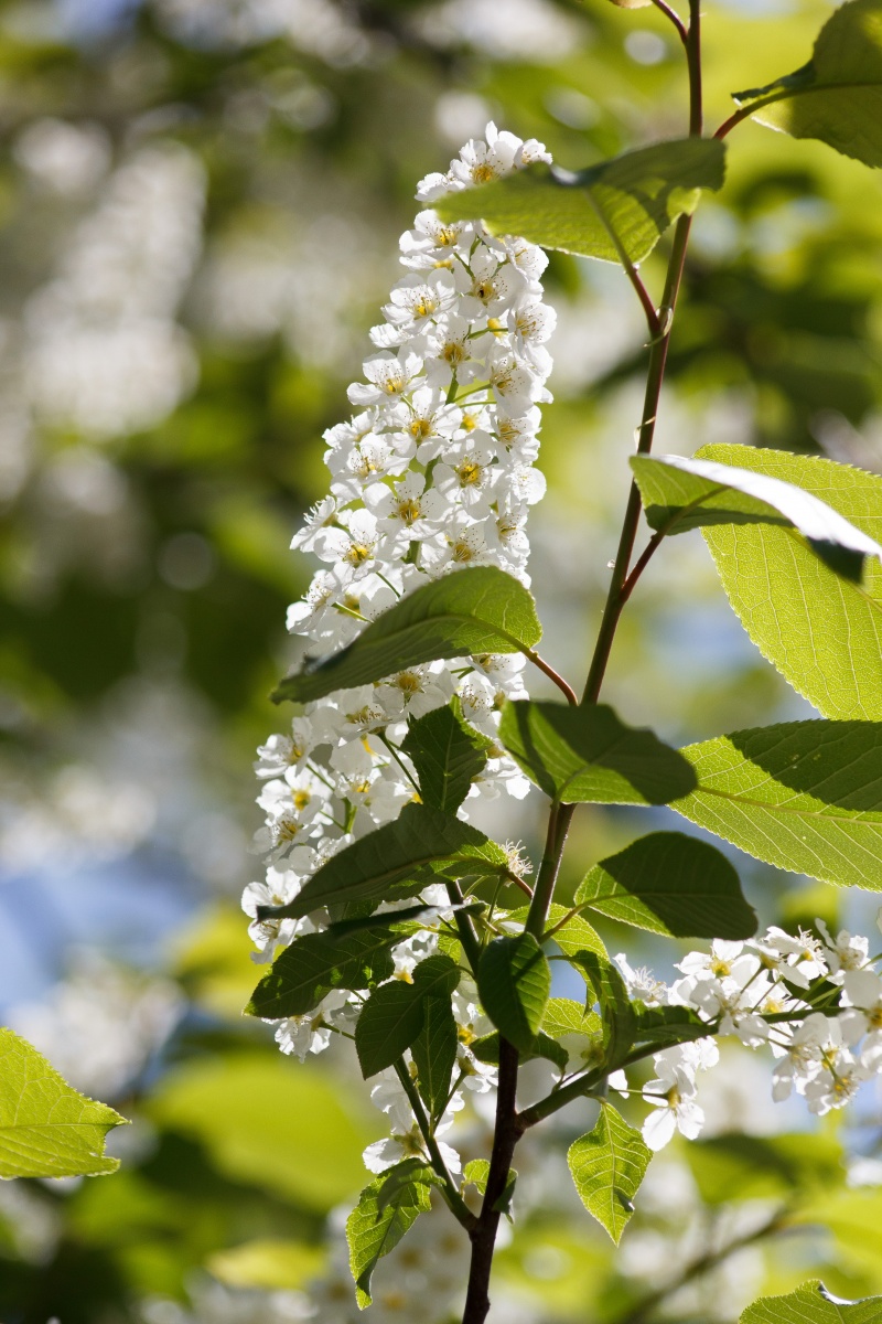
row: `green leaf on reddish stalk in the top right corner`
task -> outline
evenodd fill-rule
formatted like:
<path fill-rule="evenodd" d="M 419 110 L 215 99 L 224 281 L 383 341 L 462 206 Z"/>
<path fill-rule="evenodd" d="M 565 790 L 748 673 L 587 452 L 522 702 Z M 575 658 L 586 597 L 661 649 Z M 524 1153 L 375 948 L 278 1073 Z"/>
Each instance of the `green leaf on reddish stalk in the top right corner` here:
<path fill-rule="evenodd" d="M 819 138 L 882 166 L 882 0 L 849 0 L 821 28 L 812 58 L 766 87 L 737 91 L 760 124 Z"/>

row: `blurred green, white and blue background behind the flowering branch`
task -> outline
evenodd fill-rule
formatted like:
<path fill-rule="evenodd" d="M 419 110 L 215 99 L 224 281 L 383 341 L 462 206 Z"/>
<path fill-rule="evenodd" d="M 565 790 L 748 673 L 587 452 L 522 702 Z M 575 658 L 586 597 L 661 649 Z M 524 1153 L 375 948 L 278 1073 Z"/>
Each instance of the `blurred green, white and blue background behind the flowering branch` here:
<path fill-rule="evenodd" d="M 804 64 L 830 9 L 706 8 L 711 124 L 731 89 Z M 489 118 L 567 167 L 682 134 L 681 50 L 653 8 L 606 0 L 0 7 L 0 1017 L 134 1123 L 111 1136 L 115 1177 L 0 1185 L 3 1324 L 356 1317 L 340 1210 L 381 1119 L 345 1051 L 301 1067 L 241 1016 L 259 973 L 238 911 L 258 876 L 250 761 L 284 720 L 267 694 L 294 657 L 284 608 L 309 565 L 287 548 L 324 491 L 321 432 L 346 413 L 415 181 Z M 881 470 L 879 175 L 752 124 L 730 144 L 696 225 L 659 450 L 735 441 Z M 645 328 L 614 267 L 553 256 L 547 289 L 532 568 L 545 651 L 578 678 Z M 606 694 L 680 741 L 811 715 L 742 634 L 697 535 L 641 583 Z M 487 825 L 536 854 L 540 810 L 499 801 Z M 565 886 L 639 826 L 582 810 Z M 877 933 L 871 896 L 733 858 L 763 922 Z M 604 936 L 664 973 L 677 959 Z M 566 1177 L 590 1106 L 518 1152 L 493 1319 L 734 1320 L 817 1274 L 882 1291 L 878 1096 L 809 1127 L 772 1107 L 768 1074 L 727 1055 L 709 1139 L 653 1162 L 618 1256 Z M 485 1153 L 487 1117 L 463 1128 Z M 381 1266 L 370 1324 L 452 1317 L 459 1229 L 423 1225 Z"/>

